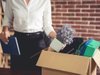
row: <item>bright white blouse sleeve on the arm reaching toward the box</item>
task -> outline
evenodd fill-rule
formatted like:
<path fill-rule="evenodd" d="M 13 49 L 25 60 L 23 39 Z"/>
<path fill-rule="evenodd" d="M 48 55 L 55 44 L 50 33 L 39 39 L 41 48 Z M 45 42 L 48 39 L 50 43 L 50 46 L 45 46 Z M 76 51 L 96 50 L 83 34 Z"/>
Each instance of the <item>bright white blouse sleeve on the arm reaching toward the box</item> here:
<path fill-rule="evenodd" d="M 43 30 L 45 31 L 45 33 L 47 35 L 49 35 L 49 33 L 51 31 L 54 31 L 54 29 L 52 27 L 51 2 L 50 2 L 50 0 L 47 0 L 47 4 L 46 4 L 45 9 L 44 9 L 43 25 L 44 25 Z"/>

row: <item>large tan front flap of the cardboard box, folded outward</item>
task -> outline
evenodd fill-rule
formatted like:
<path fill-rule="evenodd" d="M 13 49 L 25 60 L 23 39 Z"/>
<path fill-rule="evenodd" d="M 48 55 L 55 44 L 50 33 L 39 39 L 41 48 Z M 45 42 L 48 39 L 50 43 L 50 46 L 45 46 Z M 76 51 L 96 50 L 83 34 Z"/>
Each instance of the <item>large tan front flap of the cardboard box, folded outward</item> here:
<path fill-rule="evenodd" d="M 37 66 L 76 74 L 86 74 L 89 62 L 90 58 L 88 57 L 42 51 Z"/>

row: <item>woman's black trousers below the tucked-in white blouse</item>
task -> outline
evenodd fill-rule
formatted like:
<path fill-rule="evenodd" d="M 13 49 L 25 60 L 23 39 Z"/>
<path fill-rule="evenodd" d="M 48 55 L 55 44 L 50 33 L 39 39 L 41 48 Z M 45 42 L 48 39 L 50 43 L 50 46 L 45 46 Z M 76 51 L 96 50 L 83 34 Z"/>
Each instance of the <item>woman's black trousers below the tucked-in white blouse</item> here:
<path fill-rule="evenodd" d="M 41 75 L 41 68 L 36 66 L 40 54 L 34 55 L 45 48 L 43 32 L 20 33 L 15 31 L 14 36 L 17 37 L 21 55 L 11 55 L 11 69 L 33 71 L 34 75 Z"/>

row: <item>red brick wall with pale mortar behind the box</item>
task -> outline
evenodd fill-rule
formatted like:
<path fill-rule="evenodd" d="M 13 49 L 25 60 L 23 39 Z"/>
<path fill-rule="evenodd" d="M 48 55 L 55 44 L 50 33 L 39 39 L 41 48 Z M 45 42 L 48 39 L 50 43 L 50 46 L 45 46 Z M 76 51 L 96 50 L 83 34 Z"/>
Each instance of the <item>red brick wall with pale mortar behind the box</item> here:
<path fill-rule="evenodd" d="M 100 40 L 100 0 L 51 0 L 55 30 L 69 24 L 75 36 Z"/>

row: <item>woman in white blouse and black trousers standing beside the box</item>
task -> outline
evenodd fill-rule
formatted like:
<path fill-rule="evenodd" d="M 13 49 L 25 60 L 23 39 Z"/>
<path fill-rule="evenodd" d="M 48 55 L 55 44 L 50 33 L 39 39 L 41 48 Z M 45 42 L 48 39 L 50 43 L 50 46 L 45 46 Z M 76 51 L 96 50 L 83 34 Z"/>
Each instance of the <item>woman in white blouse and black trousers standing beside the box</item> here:
<path fill-rule="evenodd" d="M 41 69 L 35 66 L 39 55 L 31 57 L 43 49 L 40 45 L 43 32 L 52 39 L 56 37 L 50 0 L 7 0 L 0 37 L 4 42 L 9 41 L 12 21 L 21 55 L 11 55 L 11 69 L 34 70 L 36 75 L 40 75 Z"/>

